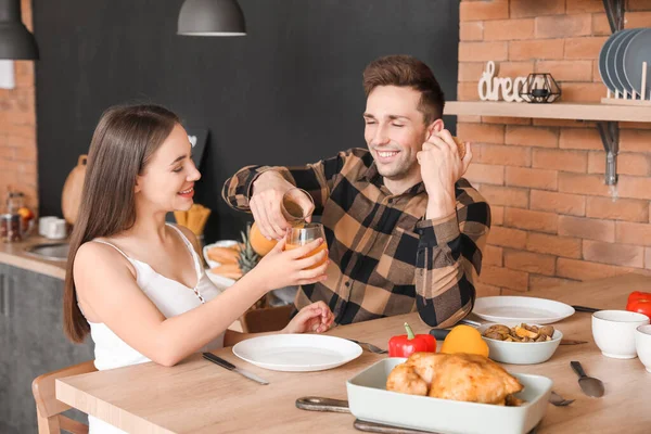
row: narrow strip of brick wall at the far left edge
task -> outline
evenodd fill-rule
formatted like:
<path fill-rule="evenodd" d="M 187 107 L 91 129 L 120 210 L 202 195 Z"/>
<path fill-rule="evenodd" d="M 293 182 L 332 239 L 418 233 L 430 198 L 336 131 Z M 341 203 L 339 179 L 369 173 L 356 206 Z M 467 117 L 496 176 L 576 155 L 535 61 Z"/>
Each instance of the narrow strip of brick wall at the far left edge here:
<path fill-rule="evenodd" d="M 31 30 L 31 1 L 22 0 L 23 23 Z M 0 212 L 8 188 L 38 206 L 34 62 L 14 62 L 15 88 L 0 89 Z"/>

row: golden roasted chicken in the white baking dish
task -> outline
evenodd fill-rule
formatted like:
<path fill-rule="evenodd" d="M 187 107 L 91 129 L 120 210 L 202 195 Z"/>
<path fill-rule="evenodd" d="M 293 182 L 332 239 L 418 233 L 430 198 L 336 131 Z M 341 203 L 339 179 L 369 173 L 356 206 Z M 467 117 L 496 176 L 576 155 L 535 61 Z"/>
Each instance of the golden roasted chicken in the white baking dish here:
<path fill-rule="evenodd" d="M 472 354 L 416 353 L 396 366 L 386 390 L 469 403 L 518 405 L 522 384 L 499 365 Z"/>

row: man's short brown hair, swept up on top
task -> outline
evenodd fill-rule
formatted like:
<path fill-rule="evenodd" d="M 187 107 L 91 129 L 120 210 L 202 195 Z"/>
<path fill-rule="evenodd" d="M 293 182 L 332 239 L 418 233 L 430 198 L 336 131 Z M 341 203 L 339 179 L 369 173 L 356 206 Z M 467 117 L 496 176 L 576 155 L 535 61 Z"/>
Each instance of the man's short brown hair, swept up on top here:
<path fill-rule="evenodd" d="M 418 110 L 425 125 L 443 116 L 445 97 L 432 69 L 411 55 L 386 55 L 369 63 L 363 71 L 363 91 L 368 97 L 378 86 L 410 87 L 421 92 Z"/>

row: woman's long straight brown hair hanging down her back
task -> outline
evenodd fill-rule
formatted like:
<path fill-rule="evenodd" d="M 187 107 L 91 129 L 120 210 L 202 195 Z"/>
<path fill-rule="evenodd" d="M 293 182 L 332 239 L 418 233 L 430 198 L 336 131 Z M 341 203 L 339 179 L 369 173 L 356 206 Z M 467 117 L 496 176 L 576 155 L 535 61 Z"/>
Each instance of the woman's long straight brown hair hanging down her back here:
<path fill-rule="evenodd" d="M 158 105 L 115 106 L 100 118 L 90 143 L 65 276 L 63 327 L 73 342 L 84 342 L 90 332 L 77 305 L 73 277 L 77 251 L 95 238 L 111 237 L 133 226 L 137 176 L 178 123 L 177 115 Z"/>

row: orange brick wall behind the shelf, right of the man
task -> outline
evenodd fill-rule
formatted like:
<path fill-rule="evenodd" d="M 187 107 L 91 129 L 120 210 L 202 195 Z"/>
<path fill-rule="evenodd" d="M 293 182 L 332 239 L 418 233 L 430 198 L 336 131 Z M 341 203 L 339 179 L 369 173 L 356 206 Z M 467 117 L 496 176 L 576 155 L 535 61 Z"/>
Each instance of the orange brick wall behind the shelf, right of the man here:
<path fill-rule="evenodd" d="M 563 101 L 599 102 L 611 34 L 602 0 L 460 3 L 459 100 L 478 100 L 487 61 L 499 76 L 549 72 Z M 651 0 L 628 0 L 626 28 L 651 27 Z M 593 123 L 459 116 L 473 143 L 467 177 L 492 204 L 480 295 L 512 294 L 651 269 L 651 124 L 621 123 L 618 199 L 604 184 Z"/>

